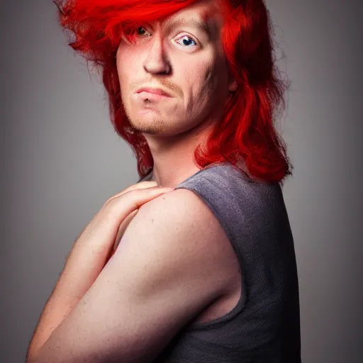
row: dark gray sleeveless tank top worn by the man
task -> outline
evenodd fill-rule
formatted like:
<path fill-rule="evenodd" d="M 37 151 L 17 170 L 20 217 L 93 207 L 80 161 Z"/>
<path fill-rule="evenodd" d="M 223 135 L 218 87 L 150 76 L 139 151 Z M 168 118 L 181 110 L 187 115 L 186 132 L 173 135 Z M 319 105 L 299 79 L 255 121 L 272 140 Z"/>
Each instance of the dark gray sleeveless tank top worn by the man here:
<path fill-rule="evenodd" d="M 223 317 L 186 323 L 154 362 L 301 363 L 296 257 L 281 186 L 223 163 L 179 188 L 199 195 L 223 226 L 240 263 L 242 294 Z"/>

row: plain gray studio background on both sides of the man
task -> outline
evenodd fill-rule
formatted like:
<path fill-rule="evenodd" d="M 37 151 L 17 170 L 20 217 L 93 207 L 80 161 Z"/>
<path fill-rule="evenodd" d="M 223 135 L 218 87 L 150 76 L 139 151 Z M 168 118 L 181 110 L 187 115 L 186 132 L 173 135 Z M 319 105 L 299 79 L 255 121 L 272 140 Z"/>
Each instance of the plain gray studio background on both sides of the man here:
<path fill-rule="evenodd" d="M 361 1 L 269 0 L 291 79 L 284 197 L 305 363 L 363 362 Z M 26 348 L 74 239 L 138 180 L 51 1 L 1 1 L 1 362 Z"/>

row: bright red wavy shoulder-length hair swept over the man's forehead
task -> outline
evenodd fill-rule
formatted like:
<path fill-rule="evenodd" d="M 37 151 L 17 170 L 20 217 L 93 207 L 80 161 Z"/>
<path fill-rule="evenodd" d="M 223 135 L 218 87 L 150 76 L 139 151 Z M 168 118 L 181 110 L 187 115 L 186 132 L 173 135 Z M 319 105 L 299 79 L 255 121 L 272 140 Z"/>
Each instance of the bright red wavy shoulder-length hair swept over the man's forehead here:
<path fill-rule="evenodd" d="M 142 133 L 130 125 L 121 101 L 116 52 L 143 23 L 162 21 L 198 0 L 54 0 L 69 45 L 101 70 L 113 126 L 135 152 L 138 174 L 153 167 Z M 219 0 L 224 24 L 221 41 L 230 73 L 238 84 L 204 149 L 194 151 L 201 168 L 230 162 L 252 179 L 282 182 L 291 174 L 286 145 L 274 128 L 284 105 L 286 84 L 274 66 L 272 26 L 263 0 Z"/>

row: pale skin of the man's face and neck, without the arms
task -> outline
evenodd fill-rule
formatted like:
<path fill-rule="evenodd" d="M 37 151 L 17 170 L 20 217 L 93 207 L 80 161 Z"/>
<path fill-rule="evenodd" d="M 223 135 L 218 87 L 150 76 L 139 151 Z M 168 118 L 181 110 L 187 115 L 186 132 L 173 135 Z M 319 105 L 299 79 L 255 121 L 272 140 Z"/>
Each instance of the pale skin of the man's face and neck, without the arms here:
<path fill-rule="evenodd" d="M 210 35 L 190 25 L 167 31 L 167 22 L 155 23 L 138 30 L 136 45 L 122 42 L 118 48 L 125 111 L 133 128 L 147 140 L 154 160 L 152 180 L 162 186 L 176 186 L 199 170 L 193 161 L 194 150 L 237 88 L 220 42 L 223 19 L 216 16 L 216 1 L 198 2 L 167 21 L 200 20 L 203 13 L 213 14 L 208 23 Z M 140 102 L 134 93 L 145 85 L 162 86 L 173 98 Z"/>

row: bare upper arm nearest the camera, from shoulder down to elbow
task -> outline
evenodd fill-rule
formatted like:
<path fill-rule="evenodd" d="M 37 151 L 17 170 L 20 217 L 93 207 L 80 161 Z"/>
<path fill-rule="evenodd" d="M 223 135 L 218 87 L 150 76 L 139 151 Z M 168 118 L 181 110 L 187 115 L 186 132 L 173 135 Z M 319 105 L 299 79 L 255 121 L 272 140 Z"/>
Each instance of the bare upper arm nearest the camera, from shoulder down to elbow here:
<path fill-rule="evenodd" d="M 152 362 L 222 294 L 223 233 L 187 189 L 141 206 L 94 285 L 50 337 L 52 362 Z"/>

